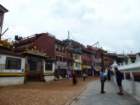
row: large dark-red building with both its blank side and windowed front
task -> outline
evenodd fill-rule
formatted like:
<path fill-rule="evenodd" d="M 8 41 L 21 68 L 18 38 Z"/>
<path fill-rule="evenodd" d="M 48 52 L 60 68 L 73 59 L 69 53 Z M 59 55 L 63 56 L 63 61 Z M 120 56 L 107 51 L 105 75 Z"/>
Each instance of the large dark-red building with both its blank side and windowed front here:
<path fill-rule="evenodd" d="M 73 58 L 69 46 L 49 33 L 36 34 L 27 38 L 16 37 L 16 39 L 14 46 L 17 53 L 33 50 L 47 55 L 47 73 L 66 77 L 67 70 L 72 68 Z"/>

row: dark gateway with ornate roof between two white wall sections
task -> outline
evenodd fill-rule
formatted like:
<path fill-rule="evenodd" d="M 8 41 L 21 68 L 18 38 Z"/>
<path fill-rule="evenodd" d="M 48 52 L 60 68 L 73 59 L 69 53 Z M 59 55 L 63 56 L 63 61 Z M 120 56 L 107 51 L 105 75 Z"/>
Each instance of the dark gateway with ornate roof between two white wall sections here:
<path fill-rule="evenodd" d="M 23 55 L 26 59 L 25 81 L 45 81 L 45 59 L 46 54 L 27 51 Z"/>

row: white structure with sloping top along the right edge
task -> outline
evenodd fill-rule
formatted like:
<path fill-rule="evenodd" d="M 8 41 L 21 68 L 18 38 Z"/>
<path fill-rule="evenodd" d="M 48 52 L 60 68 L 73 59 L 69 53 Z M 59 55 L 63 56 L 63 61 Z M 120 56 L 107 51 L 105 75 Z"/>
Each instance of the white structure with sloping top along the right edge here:
<path fill-rule="evenodd" d="M 117 65 L 116 62 L 112 66 L 117 66 L 124 74 L 123 88 L 126 92 L 140 99 L 140 56 L 136 55 L 134 63 L 128 58 L 128 63 Z"/>

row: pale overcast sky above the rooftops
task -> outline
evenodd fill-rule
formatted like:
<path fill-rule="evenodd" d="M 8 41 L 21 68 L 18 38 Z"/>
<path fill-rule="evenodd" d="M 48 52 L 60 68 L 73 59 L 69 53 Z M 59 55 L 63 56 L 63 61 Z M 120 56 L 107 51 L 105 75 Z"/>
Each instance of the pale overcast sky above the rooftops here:
<path fill-rule="evenodd" d="M 4 37 L 49 32 L 85 45 L 99 41 L 103 48 L 140 52 L 140 0 L 1 0 Z"/>

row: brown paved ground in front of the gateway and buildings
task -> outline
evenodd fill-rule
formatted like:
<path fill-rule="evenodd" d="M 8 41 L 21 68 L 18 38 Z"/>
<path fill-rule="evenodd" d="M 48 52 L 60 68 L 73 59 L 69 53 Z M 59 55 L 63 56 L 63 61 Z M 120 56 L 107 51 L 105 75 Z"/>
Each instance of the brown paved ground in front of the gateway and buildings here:
<path fill-rule="evenodd" d="M 0 87 L 0 105 L 65 105 L 92 80 L 79 80 L 76 86 L 71 80 L 59 80 Z"/>

